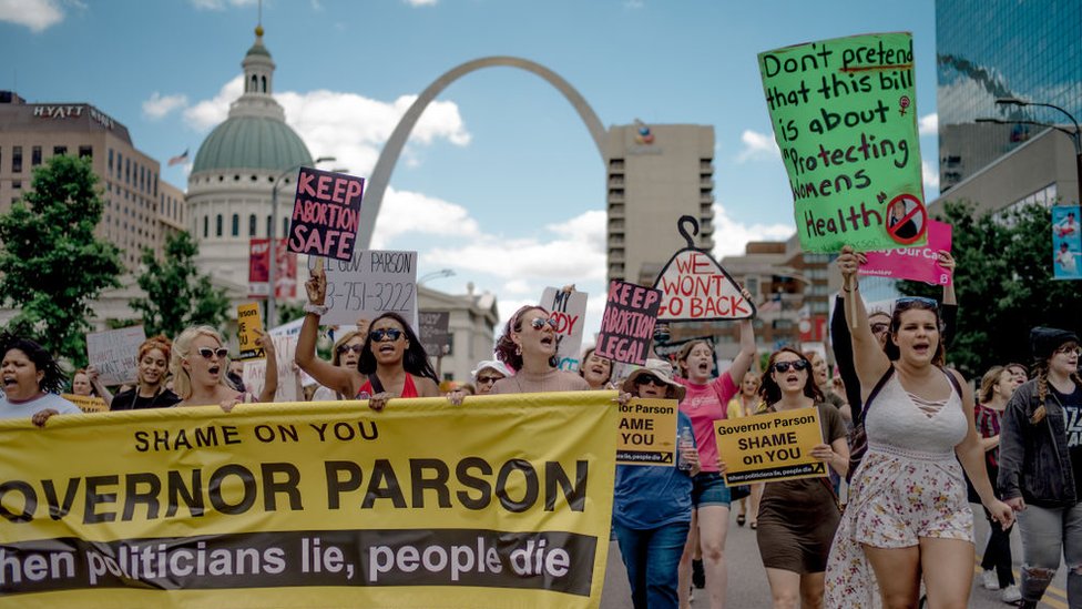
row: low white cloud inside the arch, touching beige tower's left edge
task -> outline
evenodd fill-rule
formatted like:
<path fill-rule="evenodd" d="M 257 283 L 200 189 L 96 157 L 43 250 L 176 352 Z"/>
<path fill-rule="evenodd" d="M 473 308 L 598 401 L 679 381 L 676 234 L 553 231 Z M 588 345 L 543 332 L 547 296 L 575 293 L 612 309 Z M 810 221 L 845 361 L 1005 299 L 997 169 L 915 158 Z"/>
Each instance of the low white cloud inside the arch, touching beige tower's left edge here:
<path fill-rule="evenodd" d="M 553 238 L 486 235 L 457 248 L 436 247 L 423 254 L 421 262 L 453 260 L 457 266 L 469 271 L 509 281 L 531 277 L 548 285 L 604 280 L 605 212 L 589 211 L 545 229 Z M 537 292 L 540 294 L 540 288 Z"/>

